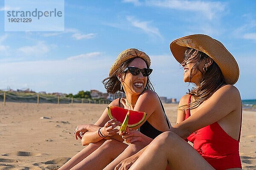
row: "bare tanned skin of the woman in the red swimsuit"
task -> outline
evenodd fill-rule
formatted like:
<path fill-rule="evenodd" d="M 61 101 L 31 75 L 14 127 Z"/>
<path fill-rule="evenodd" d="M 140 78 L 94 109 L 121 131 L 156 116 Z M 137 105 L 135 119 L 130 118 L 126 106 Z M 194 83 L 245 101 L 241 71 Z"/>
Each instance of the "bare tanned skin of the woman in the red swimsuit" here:
<path fill-rule="evenodd" d="M 212 59 L 207 59 L 199 66 L 203 70 L 204 64 L 211 65 Z M 182 63 L 184 67 L 183 79 L 190 81 L 193 62 Z M 202 79 L 200 71 L 192 72 L 192 79 L 199 85 Z M 192 101 L 194 99 L 192 98 Z M 187 104 L 189 95 L 180 99 L 179 106 Z M 185 112 L 177 112 L 177 124 L 170 132 L 157 136 L 147 147 L 123 160 L 115 170 L 164 170 L 166 165 L 175 170 L 214 170 L 214 168 L 189 145 L 185 140 L 191 133 L 202 127 L 218 122 L 221 128 L 233 139 L 239 139 L 241 124 L 241 97 L 233 85 L 224 85 L 198 108 L 191 109 L 191 116 L 185 120 Z M 172 147 L 175 146 L 175 147 Z M 241 170 L 231 168 L 229 170 Z"/>

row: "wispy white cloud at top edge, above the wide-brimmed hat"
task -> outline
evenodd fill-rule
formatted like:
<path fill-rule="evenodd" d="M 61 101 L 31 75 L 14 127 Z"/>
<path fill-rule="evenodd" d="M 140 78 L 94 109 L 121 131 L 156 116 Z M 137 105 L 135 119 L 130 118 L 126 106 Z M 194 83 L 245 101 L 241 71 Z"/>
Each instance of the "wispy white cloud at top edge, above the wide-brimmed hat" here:
<path fill-rule="evenodd" d="M 209 20 L 221 11 L 224 11 L 225 4 L 221 2 L 205 2 L 201 0 L 146 0 L 145 5 L 160 8 L 171 8 L 183 11 L 203 13 Z"/>

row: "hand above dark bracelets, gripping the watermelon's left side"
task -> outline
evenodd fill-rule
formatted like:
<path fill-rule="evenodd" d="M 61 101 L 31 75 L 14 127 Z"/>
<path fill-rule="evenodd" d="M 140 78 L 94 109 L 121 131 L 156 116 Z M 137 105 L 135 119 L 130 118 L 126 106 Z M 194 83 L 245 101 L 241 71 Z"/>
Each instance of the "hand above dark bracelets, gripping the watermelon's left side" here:
<path fill-rule="evenodd" d="M 116 126 L 118 126 L 121 122 L 116 121 L 116 119 L 111 119 L 108 121 L 104 127 L 100 129 L 103 136 L 113 136 L 116 134 L 119 130 L 114 129 Z"/>

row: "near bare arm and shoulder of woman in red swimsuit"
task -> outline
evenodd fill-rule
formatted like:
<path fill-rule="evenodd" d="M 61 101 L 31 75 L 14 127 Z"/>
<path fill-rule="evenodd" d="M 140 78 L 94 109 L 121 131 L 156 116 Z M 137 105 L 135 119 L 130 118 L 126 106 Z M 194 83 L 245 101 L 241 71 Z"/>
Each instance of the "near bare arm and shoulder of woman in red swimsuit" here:
<path fill-rule="evenodd" d="M 232 85 L 218 89 L 209 99 L 198 107 L 198 111 L 188 119 L 174 125 L 170 131 L 186 139 L 194 131 L 219 121 L 241 105 L 239 91 Z"/>

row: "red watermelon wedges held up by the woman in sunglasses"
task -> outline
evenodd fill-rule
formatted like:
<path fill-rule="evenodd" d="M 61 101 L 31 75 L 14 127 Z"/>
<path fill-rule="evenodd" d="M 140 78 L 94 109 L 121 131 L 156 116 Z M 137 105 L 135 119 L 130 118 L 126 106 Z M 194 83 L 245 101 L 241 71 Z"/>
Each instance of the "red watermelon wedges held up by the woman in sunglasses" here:
<path fill-rule="evenodd" d="M 124 122 L 128 110 L 117 106 L 108 106 L 108 116 L 110 119 L 116 119 L 119 122 Z M 140 111 L 129 111 L 128 127 L 140 125 L 146 118 L 147 113 Z"/>

